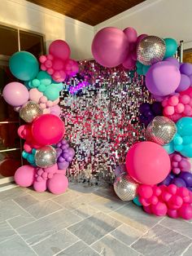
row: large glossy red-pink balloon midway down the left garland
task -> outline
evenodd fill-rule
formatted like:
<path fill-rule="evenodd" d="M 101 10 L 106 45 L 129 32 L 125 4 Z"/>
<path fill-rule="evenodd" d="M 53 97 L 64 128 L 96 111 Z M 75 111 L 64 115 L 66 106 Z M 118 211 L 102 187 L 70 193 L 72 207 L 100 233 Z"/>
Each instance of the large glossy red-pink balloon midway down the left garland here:
<path fill-rule="evenodd" d="M 52 114 L 45 114 L 33 121 L 33 138 L 41 145 L 58 143 L 64 135 L 63 121 Z"/>

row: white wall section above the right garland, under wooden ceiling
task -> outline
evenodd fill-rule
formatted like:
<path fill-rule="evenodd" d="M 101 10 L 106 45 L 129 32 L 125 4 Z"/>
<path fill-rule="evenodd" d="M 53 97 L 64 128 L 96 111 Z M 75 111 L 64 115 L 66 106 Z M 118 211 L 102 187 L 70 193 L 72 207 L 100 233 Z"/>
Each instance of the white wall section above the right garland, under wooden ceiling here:
<path fill-rule="evenodd" d="M 133 27 L 137 33 L 184 40 L 184 48 L 192 47 L 192 0 L 147 0 L 94 27 L 119 29 Z"/>

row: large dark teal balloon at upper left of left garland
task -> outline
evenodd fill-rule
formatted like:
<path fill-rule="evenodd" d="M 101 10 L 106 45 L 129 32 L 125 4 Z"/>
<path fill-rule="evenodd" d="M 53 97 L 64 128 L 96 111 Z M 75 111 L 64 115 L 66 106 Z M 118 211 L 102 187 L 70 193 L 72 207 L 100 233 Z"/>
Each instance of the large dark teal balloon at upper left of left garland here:
<path fill-rule="evenodd" d="M 32 80 L 37 76 L 39 64 L 36 57 L 28 51 L 17 51 L 9 60 L 11 73 L 22 81 Z"/>

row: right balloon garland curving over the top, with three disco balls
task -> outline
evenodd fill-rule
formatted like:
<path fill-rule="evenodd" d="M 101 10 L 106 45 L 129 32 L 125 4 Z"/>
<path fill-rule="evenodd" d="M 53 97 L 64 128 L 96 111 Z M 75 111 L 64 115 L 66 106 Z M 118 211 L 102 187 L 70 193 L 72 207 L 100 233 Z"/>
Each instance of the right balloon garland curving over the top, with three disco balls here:
<path fill-rule="evenodd" d="M 104 67 L 136 68 L 157 101 L 140 106 L 147 141 L 134 144 L 122 171 L 116 169 L 114 189 L 124 201 L 148 214 L 192 218 L 192 64 L 179 63 L 177 42 L 104 28 L 96 33 L 92 53 Z M 175 123 L 176 122 L 176 123 Z"/>

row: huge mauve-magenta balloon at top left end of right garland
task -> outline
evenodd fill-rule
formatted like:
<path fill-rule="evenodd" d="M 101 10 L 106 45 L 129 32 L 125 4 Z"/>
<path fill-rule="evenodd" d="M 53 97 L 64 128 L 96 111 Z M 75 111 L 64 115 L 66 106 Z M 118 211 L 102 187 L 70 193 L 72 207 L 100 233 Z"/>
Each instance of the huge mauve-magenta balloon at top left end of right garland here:
<path fill-rule="evenodd" d="M 96 33 L 91 50 L 98 64 L 112 68 L 126 60 L 129 42 L 122 30 L 108 27 Z"/>

